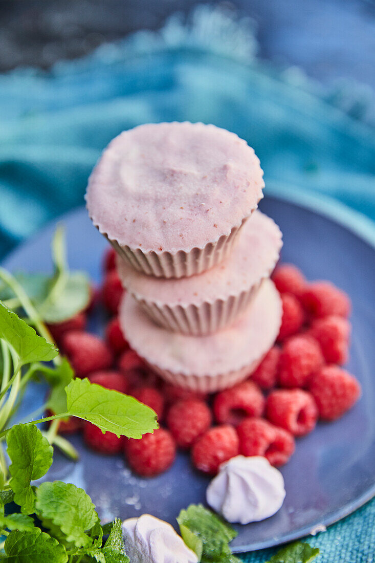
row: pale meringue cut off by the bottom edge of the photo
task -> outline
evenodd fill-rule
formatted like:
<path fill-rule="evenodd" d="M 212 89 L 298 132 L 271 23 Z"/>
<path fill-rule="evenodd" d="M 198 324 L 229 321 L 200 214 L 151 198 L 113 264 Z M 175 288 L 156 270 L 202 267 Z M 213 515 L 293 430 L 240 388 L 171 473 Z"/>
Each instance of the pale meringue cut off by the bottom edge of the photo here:
<path fill-rule="evenodd" d="M 132 563 L 198 563 L 172 526 L 149 514 L 122 523 L 125 551 Z"/>

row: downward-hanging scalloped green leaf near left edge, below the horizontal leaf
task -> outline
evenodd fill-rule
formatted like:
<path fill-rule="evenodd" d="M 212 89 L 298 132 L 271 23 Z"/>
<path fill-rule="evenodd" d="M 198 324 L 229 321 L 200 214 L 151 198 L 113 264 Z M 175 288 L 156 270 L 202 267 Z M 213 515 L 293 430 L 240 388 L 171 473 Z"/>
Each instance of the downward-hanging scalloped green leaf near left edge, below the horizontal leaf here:
<path fill-rule="evenodd" d="M 52 464 L 53 448 L 42 432 L 33 424 L 12 426 L 7 434 L 7 452 L 11 459 L 10 486 L 14 502 L 21 512 L 34 512 L 35 493 L 31 481 L 45 475 Z"/>

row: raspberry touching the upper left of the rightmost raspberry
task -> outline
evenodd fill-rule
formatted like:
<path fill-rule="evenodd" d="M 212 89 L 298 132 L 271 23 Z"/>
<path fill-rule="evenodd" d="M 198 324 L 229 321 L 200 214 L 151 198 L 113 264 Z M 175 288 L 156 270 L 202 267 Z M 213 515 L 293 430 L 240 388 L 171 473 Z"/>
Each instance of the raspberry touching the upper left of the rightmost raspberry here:
<path fill-rule="evenodd" d="M 280 386 L 305 387 L 322 365 L 322 351 L 313 338 L 303 334 L 292 336 L 285 342 L 280 354 Z"/>

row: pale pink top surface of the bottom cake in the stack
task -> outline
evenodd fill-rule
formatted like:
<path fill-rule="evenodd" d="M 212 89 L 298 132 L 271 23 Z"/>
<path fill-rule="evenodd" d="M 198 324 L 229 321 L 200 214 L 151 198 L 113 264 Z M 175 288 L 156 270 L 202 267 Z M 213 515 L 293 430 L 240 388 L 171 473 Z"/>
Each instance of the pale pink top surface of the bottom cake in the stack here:
<path fill-rule="evenodd" d="M 195 376 L 216 376 L 241 369 L 273 345 L 282 305 L 273 282 L 266 279 L 251 305 L 231 327 L 208 336 L 186 336 L 158 327 L 126 293 L 120 324 L 127 341 L 149 364 Z"/>

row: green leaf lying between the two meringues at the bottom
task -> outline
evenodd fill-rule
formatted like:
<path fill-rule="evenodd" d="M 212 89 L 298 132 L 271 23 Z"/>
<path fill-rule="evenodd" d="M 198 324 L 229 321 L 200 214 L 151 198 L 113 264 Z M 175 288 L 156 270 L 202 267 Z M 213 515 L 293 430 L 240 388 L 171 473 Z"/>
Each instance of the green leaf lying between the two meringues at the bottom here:
<path fill-rule="evenodd" d="M 202 563 L 236 560 L 228 545 L 236 537 L 236 531 L 202 504 L 190 504 L 186 510 L 181 510 L 177 522 L 182 539 L 193 551 L 197 550 L 195 553 Z"/>

